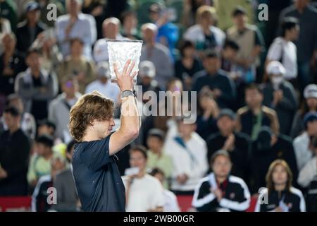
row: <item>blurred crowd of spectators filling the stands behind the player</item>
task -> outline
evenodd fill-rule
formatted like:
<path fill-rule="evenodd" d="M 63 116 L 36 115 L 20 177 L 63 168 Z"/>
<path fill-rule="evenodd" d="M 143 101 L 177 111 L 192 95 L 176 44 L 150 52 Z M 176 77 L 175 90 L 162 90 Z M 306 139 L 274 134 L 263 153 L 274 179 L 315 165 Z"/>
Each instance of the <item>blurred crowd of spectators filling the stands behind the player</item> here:
<path fill-rule="evenodd" d="M 0 39 L 0 196 L 80 211 L 70 108 L 97 90 L 118 128 L 106 40 L 143 40 L 137 84 L 196 91 L 197 121 L 142 117 L 118 153 L 128 211 L 317 211 L 317 1 L 0 0 Z"/>

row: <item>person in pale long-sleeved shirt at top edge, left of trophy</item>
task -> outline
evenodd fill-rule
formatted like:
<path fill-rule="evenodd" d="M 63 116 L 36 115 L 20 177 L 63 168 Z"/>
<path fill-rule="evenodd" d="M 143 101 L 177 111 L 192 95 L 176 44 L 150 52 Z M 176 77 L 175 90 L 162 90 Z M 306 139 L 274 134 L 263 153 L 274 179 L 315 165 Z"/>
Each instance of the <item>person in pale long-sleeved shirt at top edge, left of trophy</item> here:
<path fill-rule="evenodd" d="M 94 17 L 82 13 L 82 0 L 66 0 L 68 14 L 59 16 L 55 23 L 56 39 L 63 57 L 70 54 L 70 40 L 80 38 L 83 42 L 83 54 L 92 59 L 92 44 L 97 39 Z"/>

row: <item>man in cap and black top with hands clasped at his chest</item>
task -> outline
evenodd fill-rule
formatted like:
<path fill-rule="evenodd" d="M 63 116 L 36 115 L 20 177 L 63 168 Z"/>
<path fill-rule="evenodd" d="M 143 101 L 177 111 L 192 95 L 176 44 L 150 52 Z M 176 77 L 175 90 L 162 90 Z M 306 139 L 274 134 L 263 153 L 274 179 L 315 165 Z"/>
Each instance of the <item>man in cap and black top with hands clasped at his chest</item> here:
<path fill-rule="evenodd" d="M 208 159 L 217 150 L 227 150 L 232 160 L 231 174 L 247 182 L 249 178 L 249 138 L 235 132 L 236 115 L 231 109 L 220 111 L 217 119 L 219 131 L 207 138 Z"/>

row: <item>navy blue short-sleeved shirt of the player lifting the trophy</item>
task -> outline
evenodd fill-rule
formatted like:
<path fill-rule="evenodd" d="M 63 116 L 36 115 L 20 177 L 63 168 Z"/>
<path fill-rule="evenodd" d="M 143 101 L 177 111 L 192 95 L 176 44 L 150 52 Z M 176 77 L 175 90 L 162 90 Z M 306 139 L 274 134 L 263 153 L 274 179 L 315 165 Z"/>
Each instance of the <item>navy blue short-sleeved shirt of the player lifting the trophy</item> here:
<path fill-rule="evenodd" d="M 125 211 L 125 186 L 116 155 L 109 155 L 110 136 L 75 145 L 73 174 L 84 211 Z"/>

